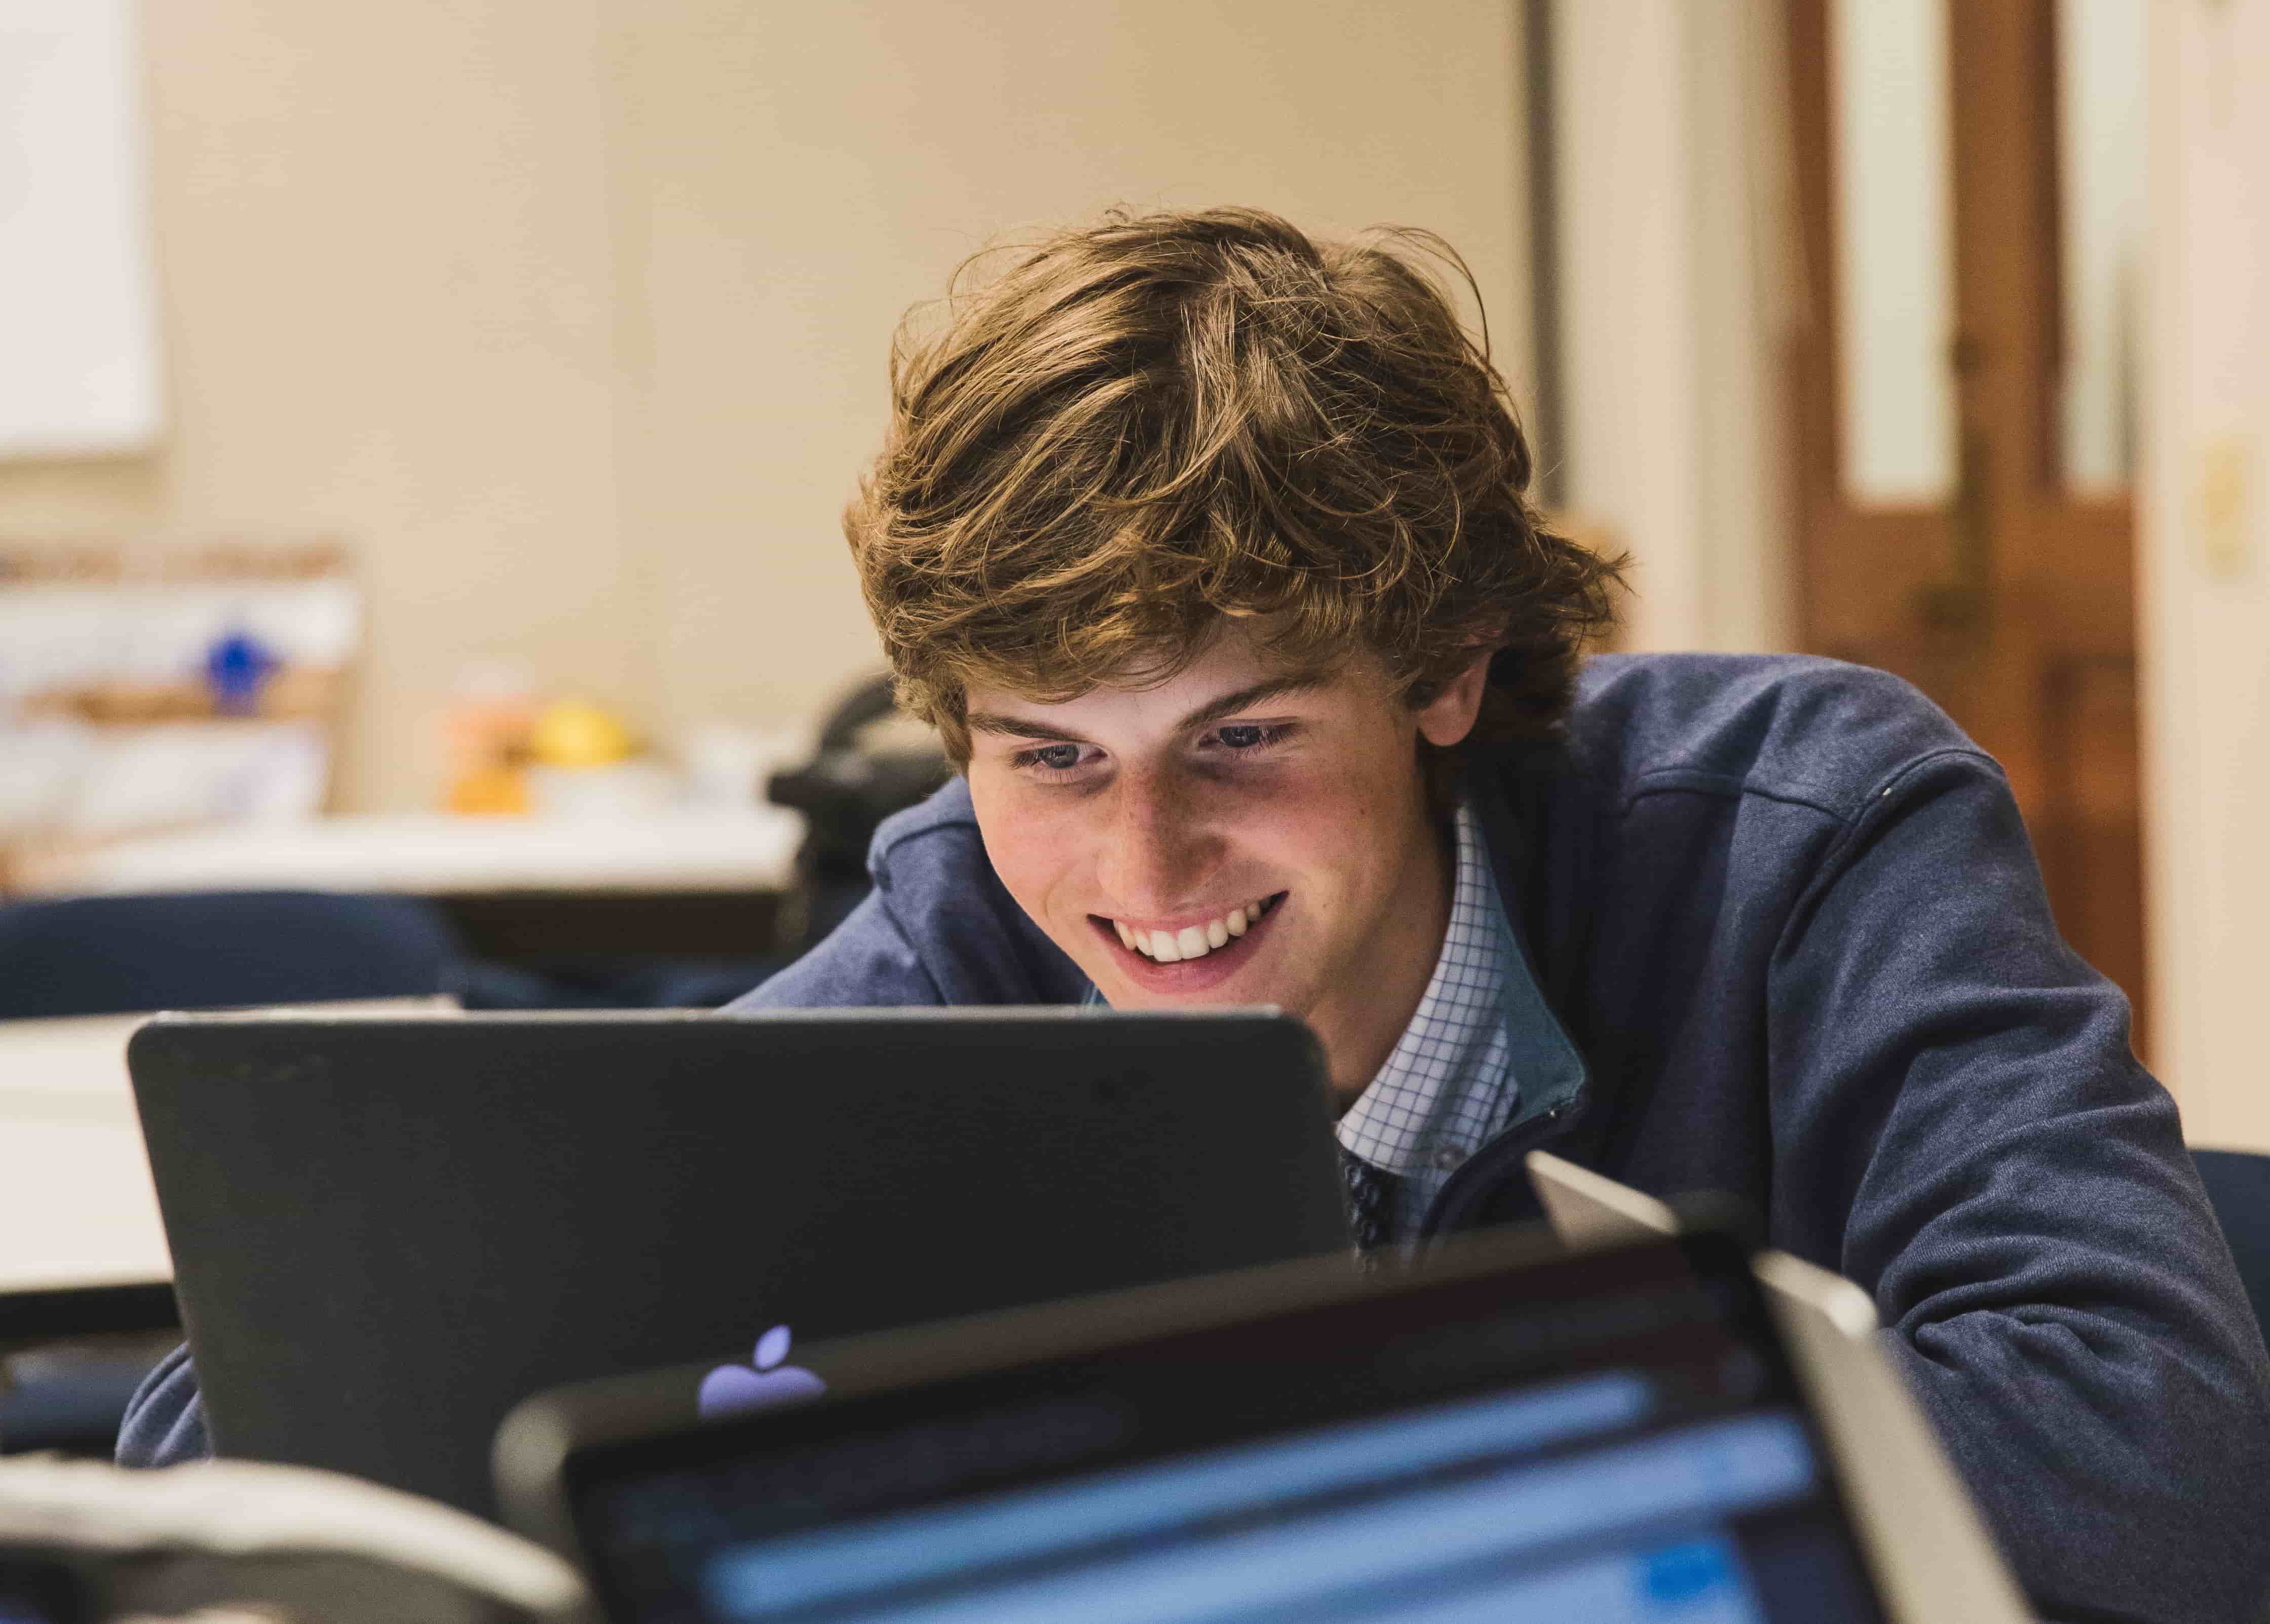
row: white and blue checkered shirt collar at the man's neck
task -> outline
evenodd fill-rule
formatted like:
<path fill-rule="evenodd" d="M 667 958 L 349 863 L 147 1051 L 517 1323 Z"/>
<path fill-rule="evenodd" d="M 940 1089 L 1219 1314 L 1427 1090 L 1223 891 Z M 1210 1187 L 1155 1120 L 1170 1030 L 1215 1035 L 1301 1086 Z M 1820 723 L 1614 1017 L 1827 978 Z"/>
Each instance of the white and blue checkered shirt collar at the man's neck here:
<path fill-rule="evenodd" d="M 1460 802 L 1451 927 L 1394 1054 L 1339 1117 L 1351 1156 L 1405 1177 L 1439 1172 L 1512 1120 L 1500 913 L 1480 820 Z"/>

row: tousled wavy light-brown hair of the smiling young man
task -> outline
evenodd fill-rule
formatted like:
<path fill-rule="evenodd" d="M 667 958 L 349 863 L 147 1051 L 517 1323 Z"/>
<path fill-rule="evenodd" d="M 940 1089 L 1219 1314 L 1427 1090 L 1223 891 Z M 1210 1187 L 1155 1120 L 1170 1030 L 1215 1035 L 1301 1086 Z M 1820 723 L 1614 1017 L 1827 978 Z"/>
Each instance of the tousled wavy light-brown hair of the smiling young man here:
<path fill-rule="evenodd" d="M 1480 304 L 1432 232 L 1115 209 L 965 259 L 935 332 L 938 304 L 908 313 L 844 538 L 899 702 L 958 765 L 967 684 L 1053 702 L 1167 679 L 1224 618 L 1264 618 L 1289 670 L 1369 650 L 1412 704 L 1498 650 L 1469 743 L 1557 729 L 1623 561 L 1525 500 L 1487 327 L 1423 257 Z"/>

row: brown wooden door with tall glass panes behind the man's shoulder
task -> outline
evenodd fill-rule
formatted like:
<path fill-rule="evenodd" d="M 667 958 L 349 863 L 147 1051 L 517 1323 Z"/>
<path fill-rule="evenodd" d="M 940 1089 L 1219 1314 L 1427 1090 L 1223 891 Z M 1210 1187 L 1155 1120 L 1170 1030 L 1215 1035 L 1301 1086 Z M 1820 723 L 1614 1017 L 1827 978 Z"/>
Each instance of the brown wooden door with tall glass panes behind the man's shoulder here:
<path fill-rule="evenodd" d="M 2009 772 L 2066 940 L 2118 981 L 2143 1052 L 2134 520 L 2059 457 L 2052 0 L 1950 0 L 1957 479 L 1868 504 L 1841 468 L 1830 0 L 1789 0 L 1809 320 L 1793 345 L 1798 622 L 1807 650 L 1893 670 Z"/>

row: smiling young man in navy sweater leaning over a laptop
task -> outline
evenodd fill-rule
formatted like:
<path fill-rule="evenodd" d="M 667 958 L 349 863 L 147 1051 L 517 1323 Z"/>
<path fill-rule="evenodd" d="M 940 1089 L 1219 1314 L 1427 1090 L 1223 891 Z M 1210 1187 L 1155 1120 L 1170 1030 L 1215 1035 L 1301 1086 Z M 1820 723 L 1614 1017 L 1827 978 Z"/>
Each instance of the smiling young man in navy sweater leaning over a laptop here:
<path fill-rule="evenodd" d="M 2000 770 L 1880 672 L 1580 670 L 1614 568 L 1439 248 L 1110 216 L 901 338 L 844 527 L 962 775 L 742 1006 L 1280 1004 L 1367 1240 L 1535 1215 L 1537 1145 L 1746 1197 L 2052 1617 L 2252 1617 L 2270 1361 Z M 120 1454 L 195 1431 L 175 1367 Z"/>

